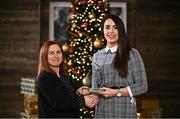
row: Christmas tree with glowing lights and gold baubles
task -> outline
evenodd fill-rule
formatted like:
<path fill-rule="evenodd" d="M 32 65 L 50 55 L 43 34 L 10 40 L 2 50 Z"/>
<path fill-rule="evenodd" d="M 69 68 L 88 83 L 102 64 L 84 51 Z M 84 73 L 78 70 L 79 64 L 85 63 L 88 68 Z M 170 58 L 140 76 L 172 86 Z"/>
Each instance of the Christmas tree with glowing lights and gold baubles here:
<path fill-rule="evenodd" d="M 67 71 L 79 86 L 90 86 L 92 56 L 105 46 L 100 25 L 109 13 L 108 0 L 73 0 L 70 9 L 69 40 L 63 44 Z M 93 117 L 93 109 L 81 109 L 83 117 Z"/>

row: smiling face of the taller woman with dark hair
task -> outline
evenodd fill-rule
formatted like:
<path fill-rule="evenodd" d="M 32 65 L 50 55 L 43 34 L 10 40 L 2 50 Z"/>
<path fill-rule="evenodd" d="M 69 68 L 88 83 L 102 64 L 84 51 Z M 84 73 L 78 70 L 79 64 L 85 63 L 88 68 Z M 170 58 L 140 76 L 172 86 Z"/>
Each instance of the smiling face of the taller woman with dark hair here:
<path fill-rule="evenodd" d="M 109 18 L 104 22 L 103 32 L 107 45 L 109 47 L 115 46 L 118 42 L 119 34 L 117 26 L 112 19 Z"/>

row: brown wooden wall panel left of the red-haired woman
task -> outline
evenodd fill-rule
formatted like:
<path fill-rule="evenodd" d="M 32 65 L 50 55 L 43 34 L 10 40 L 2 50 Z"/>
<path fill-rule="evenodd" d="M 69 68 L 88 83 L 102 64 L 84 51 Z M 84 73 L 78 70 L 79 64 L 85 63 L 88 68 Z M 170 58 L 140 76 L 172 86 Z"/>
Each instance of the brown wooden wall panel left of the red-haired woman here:
<path fill-rule="evenodd" d="M 34 77 L 40 42 L 40 1 L 0 2 L 0 117 L 24 110 L 21 77 Z"/>

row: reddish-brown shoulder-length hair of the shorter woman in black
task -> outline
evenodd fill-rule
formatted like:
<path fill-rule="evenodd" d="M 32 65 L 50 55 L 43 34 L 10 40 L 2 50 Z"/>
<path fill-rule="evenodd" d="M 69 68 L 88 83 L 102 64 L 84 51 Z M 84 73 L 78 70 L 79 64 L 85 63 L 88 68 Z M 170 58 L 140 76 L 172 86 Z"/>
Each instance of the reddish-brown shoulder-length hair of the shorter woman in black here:
<path fill-rule="evenodd" d="M 62 55 L 63 55 L 63 61 L 59 66 L 60 67 L 59 73 L 60 74 L 67 74 L 65 69 L 64 69 L 64 52 L 63 52 L 61 44 L 57 41 L 46 41 L 42 45 L 42 47 L 40 49 L 40 53 L 39 53 L 38 75 L 42 71 L 47 71 L 47 72 L 52 73 L 54 76 L 56 76 L 56 73 L 50 68 L 50 65 L 48 63 L 48 50 L 49 50 L 49 47 L 51 45 L 54 45 L 54 44 L 57 44 L 60 47 Z"/>

